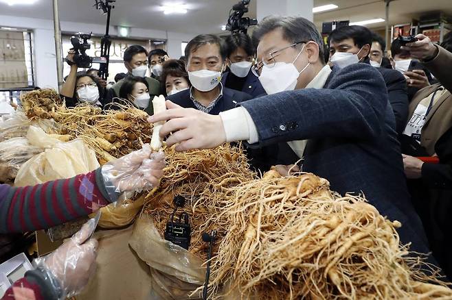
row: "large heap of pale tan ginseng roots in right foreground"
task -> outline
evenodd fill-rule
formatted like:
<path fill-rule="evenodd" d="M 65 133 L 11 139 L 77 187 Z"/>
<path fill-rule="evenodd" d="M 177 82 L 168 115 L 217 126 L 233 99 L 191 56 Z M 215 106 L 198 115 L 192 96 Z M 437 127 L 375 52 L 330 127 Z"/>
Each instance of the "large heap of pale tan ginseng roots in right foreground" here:
<path fill-rule="evenodd" d="M 438 269 L 400 245 L 398 221 L 326 179 L 270 171 L 218 199 L 208 222 L 228 226 L 212 299 L 452 299 Z"/>

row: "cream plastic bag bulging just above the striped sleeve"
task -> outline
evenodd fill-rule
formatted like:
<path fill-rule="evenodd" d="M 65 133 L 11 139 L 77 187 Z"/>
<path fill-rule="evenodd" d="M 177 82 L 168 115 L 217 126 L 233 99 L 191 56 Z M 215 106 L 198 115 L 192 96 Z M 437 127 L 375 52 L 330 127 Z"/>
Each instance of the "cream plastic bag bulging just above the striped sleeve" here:
<path fill-rule="evenodd" d="M 48 137 L 47 137 L 48 138 Z M 89 173 L 100 166 L 95 152 L 82 140 L 57 142 L 28 160 L 19 169 L 14 186 L 34 186 L 56 179 Z M 50 147 L 50 145 L 48 145 Z"/>

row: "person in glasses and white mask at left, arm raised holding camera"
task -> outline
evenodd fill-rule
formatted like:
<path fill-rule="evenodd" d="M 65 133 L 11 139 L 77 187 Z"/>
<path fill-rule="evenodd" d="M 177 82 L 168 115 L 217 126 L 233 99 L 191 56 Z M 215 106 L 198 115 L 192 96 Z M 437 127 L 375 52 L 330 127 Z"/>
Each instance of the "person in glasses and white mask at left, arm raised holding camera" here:
<path fill-rule="evenodd" d="M 66 62 L 71 66 L 71 71 L 61 88 L 61 97 L 64 97 L 68 108 L 80 103 L 102 107 L 100 100 L 104 96 L 104 89 L 98 77 L 89 75 L 87 72 L 77 72 L 78 66 L 74 62 L 74 54 L 75 51 L 72 49 L 67 53 Z"/>

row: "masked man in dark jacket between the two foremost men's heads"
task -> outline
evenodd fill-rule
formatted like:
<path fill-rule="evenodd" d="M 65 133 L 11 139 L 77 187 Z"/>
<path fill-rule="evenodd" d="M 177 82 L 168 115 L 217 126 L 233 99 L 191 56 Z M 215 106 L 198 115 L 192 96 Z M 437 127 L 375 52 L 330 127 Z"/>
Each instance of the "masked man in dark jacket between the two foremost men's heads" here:
<path fill-rule="evenodd" d="M 223 73 L 221 82 L 226 88 L 241 90 L 256 98 L 265 95 L 259 78 L 251 72 L 251 62 L 255 47 L 247 34 L 231 34 L 225 38 L 227 65 L 229 70 Z"/>

